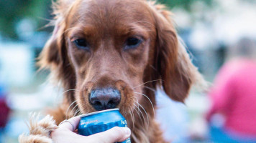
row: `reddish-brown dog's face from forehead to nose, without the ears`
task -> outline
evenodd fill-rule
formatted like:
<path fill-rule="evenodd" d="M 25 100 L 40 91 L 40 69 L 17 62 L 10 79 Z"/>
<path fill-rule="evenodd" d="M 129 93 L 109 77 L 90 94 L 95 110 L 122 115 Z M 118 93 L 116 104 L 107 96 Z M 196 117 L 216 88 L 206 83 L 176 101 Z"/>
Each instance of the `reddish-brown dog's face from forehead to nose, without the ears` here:
<path fill-rule="evenodd" d="M 81 1 L 70 10 L 65 39 L 83 112 L 131 109 L 142 97 L 134 87 L 143 83 L 156 31 L 149 11 L 134 4 Z"/>

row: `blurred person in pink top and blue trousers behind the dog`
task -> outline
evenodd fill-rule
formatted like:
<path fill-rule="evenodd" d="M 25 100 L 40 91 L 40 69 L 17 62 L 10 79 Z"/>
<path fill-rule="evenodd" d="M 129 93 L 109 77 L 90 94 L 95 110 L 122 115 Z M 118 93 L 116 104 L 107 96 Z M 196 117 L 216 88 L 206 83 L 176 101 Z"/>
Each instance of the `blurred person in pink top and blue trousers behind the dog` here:
<path fill-rule="evenodd" d="M 216 75 L 206 117 L 213 142 L 256 142 L 255 50 L 255 41 L 240 40 Z"/>

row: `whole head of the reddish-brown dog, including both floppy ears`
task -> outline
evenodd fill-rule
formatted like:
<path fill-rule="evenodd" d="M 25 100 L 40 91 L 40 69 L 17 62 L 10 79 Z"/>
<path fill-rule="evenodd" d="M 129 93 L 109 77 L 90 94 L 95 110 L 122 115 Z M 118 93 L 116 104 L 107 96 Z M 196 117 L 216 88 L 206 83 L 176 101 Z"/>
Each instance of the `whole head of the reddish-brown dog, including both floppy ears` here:
<path fill-rule="evenodd" d="M 200 77 L 162 5 L 76 0 L 55 6 L 55 31 L 39 63 L 55 73 L 65 90 L 76 89 L 65 96 L 83 113 L 151 106 L 155 95 L 150 89 L 157 86 L 183 102 Z"/>

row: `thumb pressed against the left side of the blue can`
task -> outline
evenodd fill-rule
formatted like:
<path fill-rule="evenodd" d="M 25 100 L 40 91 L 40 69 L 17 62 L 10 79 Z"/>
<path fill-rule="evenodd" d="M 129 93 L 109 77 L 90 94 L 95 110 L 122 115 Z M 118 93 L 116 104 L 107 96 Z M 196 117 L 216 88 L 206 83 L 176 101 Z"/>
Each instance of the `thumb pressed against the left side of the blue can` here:
<path fill-rule="evenodd" d="M 68 119 L 67 121 L 63 121 L 62 123 L 60 123 L 59 127 L 63 129 L 68 129 L 73 132 L 73 130 L 75 130 L 78 127 L 79 121 L 80 121 L 79 116 L 73 117 Z"/>

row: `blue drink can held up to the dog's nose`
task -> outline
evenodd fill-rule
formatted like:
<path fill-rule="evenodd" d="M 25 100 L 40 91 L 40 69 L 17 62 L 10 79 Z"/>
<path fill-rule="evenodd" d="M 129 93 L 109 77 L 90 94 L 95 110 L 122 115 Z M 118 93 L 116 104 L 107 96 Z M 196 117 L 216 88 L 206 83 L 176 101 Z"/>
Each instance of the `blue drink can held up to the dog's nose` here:
<path fill-rule="evenodd" d="M 89 136 L 104 132 L 112 127 L 127 127 L 127 120 L 120 114 L 119 109 L 107 109 L 81 115 L 78 124 L 78 134 Z M 120 143 L 131 143 L 130 139 Z"/>

